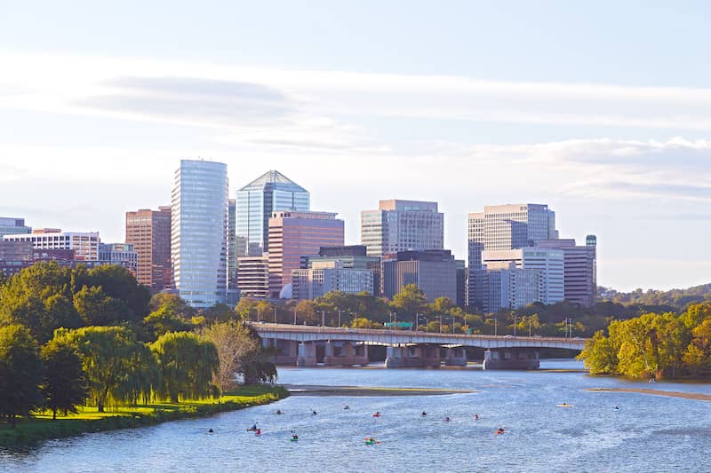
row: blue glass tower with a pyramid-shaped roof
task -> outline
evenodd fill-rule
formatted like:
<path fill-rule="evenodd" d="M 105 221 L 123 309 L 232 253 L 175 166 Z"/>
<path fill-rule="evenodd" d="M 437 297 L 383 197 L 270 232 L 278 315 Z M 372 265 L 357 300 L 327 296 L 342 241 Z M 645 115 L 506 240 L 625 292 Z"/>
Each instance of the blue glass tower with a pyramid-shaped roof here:
<path fill-rule="evenodd" d="M 270 170 L 236 192 L 236 255 L 269 251 L 269 218 L 274 212 L 308 212 L 309 194 L 284 174 Z"/>

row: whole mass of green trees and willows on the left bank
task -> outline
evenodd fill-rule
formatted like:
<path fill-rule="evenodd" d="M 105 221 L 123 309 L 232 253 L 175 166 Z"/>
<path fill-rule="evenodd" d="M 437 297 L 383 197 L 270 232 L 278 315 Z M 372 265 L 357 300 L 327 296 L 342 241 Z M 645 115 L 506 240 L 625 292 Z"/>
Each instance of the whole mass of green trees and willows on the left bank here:
<path fill-rule="evenodd" d="M 121 266 L 40 263 L 0 284 L 0 415 L 77 406 L 217 398 L 273 382 L 259 335 L 234 310 L 196 311 L 138 284 Z"/>

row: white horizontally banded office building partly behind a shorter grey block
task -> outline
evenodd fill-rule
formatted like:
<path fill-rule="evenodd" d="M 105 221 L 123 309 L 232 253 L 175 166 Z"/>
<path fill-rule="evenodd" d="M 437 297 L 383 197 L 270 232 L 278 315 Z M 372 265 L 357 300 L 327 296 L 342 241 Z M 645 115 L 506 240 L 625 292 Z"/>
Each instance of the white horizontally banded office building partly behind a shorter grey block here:
<path fill-rule="evenodd" d="M 537 302 L 555 304 L 563 301 L 563 250 L 539 247 L 491 249 L 484 250 L 482 257 L 487 270 L 520 268 L 538 271 L 540 290 Z"/>

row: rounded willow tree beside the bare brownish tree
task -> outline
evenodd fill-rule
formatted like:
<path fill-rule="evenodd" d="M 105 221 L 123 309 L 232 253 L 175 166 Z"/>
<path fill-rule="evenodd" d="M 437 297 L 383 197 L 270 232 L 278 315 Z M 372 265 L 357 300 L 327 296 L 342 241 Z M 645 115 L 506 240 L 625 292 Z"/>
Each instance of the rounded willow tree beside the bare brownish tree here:
<path fill-rule="evenodd" d="M 180 398 L 208 398 L 217 393 L 212 377 L 220 370 L 214 343 L 201 335 L 168 332 L 150 345 L 161 374 L 158 394 L 177 403 Z"/>

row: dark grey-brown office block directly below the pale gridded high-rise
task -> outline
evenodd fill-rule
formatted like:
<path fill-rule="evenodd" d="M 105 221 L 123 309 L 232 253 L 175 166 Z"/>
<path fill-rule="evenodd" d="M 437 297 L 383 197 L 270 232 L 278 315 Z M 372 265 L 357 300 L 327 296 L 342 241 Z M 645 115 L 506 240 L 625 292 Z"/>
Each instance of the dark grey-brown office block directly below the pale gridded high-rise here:
<path fill-rule="evenodd" d="M 437 297 L 457 301 L 457 262 L 448 249 L 400 251 L 383 256 L 383 296 L 392 299 L 403 287 L 422 289 L 427 302 Z"/>

